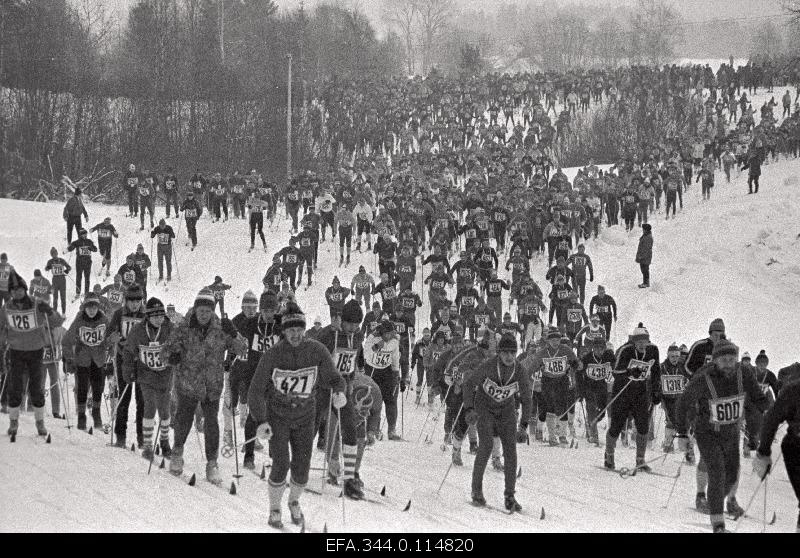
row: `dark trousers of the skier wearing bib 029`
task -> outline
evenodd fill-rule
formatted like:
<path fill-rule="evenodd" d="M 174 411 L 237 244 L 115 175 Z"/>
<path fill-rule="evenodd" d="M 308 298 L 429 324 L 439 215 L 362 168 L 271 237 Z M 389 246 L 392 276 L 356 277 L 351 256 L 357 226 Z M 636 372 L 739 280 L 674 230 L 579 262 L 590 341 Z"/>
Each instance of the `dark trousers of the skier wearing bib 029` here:
<path fill-rule="evenodd" d="M 505 405 L 498 413 L 478 412 L 478 453 L 472 468 L 472 492 L 483 493 L 483 474 L 492 455 L 494 437 L 500 437 L 505 459 L 506 496 L 513 496 L 517 485 L 517 415 L 513 404 Z"/>

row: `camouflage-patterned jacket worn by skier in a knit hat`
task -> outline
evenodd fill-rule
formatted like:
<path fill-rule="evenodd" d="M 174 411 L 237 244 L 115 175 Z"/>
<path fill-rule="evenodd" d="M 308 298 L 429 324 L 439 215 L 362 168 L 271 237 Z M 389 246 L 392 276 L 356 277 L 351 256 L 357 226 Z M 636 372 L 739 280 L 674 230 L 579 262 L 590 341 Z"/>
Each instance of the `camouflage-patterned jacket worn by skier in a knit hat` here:
<path fill-rule="evenodd" d="M 186 321 L 172 330 L 163 354 L 173 365 L 179 394 L 199 401 L 214 401 L 222 395 L 225 352 L 239 354 L 246 349 L 247 343 L 241 336 L 232 337 L 222 330 L 216 315 L 204 331 L 190 312 Z"/>

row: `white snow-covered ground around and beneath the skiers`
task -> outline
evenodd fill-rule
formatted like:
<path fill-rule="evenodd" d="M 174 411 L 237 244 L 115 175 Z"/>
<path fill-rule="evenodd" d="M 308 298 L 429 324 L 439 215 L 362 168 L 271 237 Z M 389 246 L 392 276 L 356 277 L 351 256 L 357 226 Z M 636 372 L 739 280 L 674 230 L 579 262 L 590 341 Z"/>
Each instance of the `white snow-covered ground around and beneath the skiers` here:
<path fill-rule="evenodd" d="M 715 317 L 725 320 L 729 336 L 742 350 L 755 355 L 765 349 L 771 369 L 777 370 L 798 358 L 797 331 L 800 331 L 800 164 L 797 160 L 767 165 L 762 175 L 761 192 L 748 196 L 746 176 L 725 184 L 717 176 L 711 201 L 703 202 L 699 185 L 684 196 L 684 209 L 675 219 L 664 220 L 663 213 L 651 218 L 655 237 L 652 288 L 640 290 L 638 265 L 634 256 L 638 233 L 625 233 L 620 227 L 604 229 L 597 240 L 587 242 L 587 253 L 595 266 L 596 285 L 605 285 L 619 305 L 619 322 L 612 340 L 618 345 L 638 323 L 644 322 L 651 338 L 665 356 L 669 343 L 690 344 L 706 335 Z M 65 244 L 62 205 L 0 201 L 0 251 L 26 278 L 42 268 L 51 246 Z M 90 224 L 110 216 L 117 226 L 121 243 L 118 266 L 138 242 L 149 251 L 146 232 L 138 231 L 138 220 L 126 219 L 121 207 L 90 205 Z M 158 217 L 163 208 L 158 209 Z M 261 290 L 261 277 L 270 256 L 286 243 L 289 222 L 276 221 L 267 233 L 269 253 L 247 253 L 249 238 L 244 220 L 212 224 L 206 217 L 198 225 L 199 246 L 190 252 L 184 246 L 186 234 L 179 221 L 170 221 L 179 232 L 176 279 L 167 291 L 150 286 L 152 295 L 165 303 L 175 303 L 185 311 L 199 288 L 210 284 L 215 275 L 233 285 L 228 310 L 238 311 L 241 295 Z M 319 282 L 298 291 L 298 300 L 309 323 L 315 316 L 325 318 L 328 311 L 323 291 L 337 274 L 344 284 L 356 273 L 359 264 L 375 268 L 372 254 L 354 252 L 353 262 L 338 268 L 338 255 L 330 242 L 320 247 Z M 534 278 L 542 283 L 546 261 L 535 260 Z M 151 275 L 152 277 L 152 275 Z M 72 283 L 68 283 L 72 290 Z M 588 298 L 587 298 L 588 300 Z M 77 305 L 70 305 L 74 315 Z M 427 316 L 427 305 L 420 316 Z M 70 379 L 72 383 L 73 379 Z M 408 392 L 407 392 L 408 393 Z M 345 502 L 343 518 L 339 490 L 326 486 L 325 494 L 306 494 L 302 499 L 309 529 L 347 531 L 707 531 L 708 518 L 697 514 L 694 504 L 694 467 L 679 466 L 679 456 L 667 455 L 654 470 L 675 475 L 680 470 L 675 493 L 665 509 L 671 478 L 640 474 L 623 480 L 600 468 L 603 450 L 589 447 L 583 438 L 578 449 L 561 449 L 532 443 L 518 446 L 522 477 L 517 497 L 524 515 L 507 517 L 495 511 L 473 508 L 469 486 L 473 457 L 465 452 L 465 467 L 453 468 L 441 492 L 437 488 L 450 463 L 450 454 L 439 448 L 444 435 L 442 420 L 435 425 L 433 444 L 417 443 L 428 409 L 417 408 L 410 393 L 404 407 L 404 442 L 378 442 L 367 450 L 362 477 L 367 486 L 386 498 L 371 493 L 381 503 Z M 74 406 L 70 408 L 74 412 Z M 49 409 L 49 403 L 48 403 Z M 104 409 L 103 414 L 106 416 Z M 659 416 L 656 449 L 660 453 L 663 420 Z M 133 418 L 133 413 L 131 413 Z M 581 413 L 578 414 L 578 420 Z M 7 418 L 2 418 L 6 427 Z M 74 421 L 74 416 L 72 418 Z M 601 423 L 604 428 L 605 421 Z M 194 434 L 186 446 L 186 470 L 198 475 L 196 487 L 180 484 L 166 471 L 154 467 L 150 476 L 147 463 L 137 453 L 106 446 L 107 436 L 69 433 L 62 421 L 48 421 L 53 442 L 45 444 L 33 435 L 33 417 L 23 413 L 20 434 L 15 444 L 3 441 L 0 451 L 0 530 L 3 531 L 269 531 L 267 485 L 252 473 L 242 477 L 238 494 L 213 487 L 203 480 L 204 462 Z M 602 430 L 601 428 L 601 430 Z M 129 425 L 129 432 L 134 429 Z M 426 432 L 432 429 L 427 421 Z M 782 431 L 781 431 L 782 432 Z M 578 426 L 579 436 L 583 426 Z M 602 436 L 602 431 L 601 431 Z M 779 439 L 782 434 L 779 434 Z M 425 436 L 422 436 L 423 440 Z M 777 448 L 776 448 L 777 451 Z M 266 454 L 256 458 L 258 469 Z M 220 457 L 226 483 L 234 473 L 233 459 Z M 618 446 L 618 467 L 634 464 L 633 449 Z M 321 466 L 315 452 L 312 466 Z M 320 472 L 311 472 L 309 485 L 320 488 Z M 742 460 L 739 502 L 745 506 L 757 486 L 751 475 L 750 460 Z M 502 475 L 486 472 L 484 492 L 490 504 L 502 507 Z M 796 501 L 781 464 L 769 480 L 767 516 L 777 512 L 770 532 L 794 529 Z M 411 500 L 408 512 L 402 512 Z M 741 520 L 740 531 L 761 529 L 762 499 L 751 508 L 755 519 Z M 541 510 L 545 518 L 540 519 Z M 288 512 L 284 510 L 286 515 Z M 729 522 L 730 523 L 730 522 Z"/>

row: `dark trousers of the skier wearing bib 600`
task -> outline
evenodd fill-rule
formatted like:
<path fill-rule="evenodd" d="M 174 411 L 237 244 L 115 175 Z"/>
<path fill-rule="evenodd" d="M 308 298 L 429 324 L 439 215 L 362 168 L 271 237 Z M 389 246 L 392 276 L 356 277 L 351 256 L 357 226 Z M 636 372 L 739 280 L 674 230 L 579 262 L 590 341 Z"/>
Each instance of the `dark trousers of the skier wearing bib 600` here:
<path fill-rule="evenodd" d="M 708 471 L 708 507 L 711 515 L 722 515 L 725 495 L 739 476 L 739 433 L 721 436 L 714 432 L 695 436 L 700 457 Z"/>

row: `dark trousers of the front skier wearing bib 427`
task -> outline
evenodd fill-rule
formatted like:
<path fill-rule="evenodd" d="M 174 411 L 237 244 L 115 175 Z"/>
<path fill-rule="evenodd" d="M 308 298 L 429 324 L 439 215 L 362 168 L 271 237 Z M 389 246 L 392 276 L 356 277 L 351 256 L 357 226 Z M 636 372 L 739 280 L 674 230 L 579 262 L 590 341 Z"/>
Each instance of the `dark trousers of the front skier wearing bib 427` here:
<path fill-rule="evenodd" d="M 312 413 L 300 421 L 290 422 L 276 417 L 270 422 L 272 438 L 269 440 L 269 454 L 272 457 L 272 469 L 269 473 L 269 481 L 271 484 L 281 485 L 286 482 L 286 473 L 290 469 L 294 484 L 305 485 L 308 482 L 308 469 L 311 466 L 311 452 L 314 445 L 315 414 Z"/>

